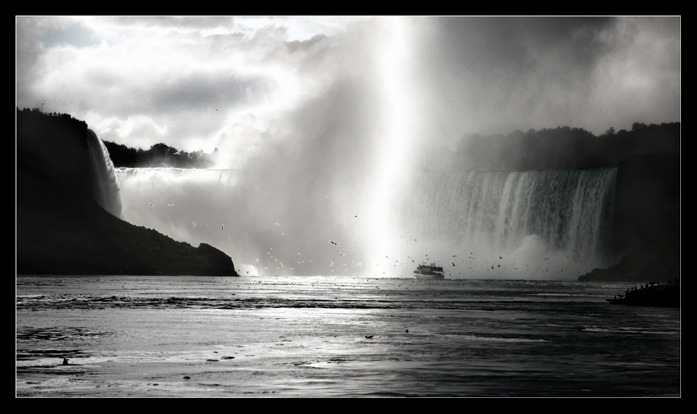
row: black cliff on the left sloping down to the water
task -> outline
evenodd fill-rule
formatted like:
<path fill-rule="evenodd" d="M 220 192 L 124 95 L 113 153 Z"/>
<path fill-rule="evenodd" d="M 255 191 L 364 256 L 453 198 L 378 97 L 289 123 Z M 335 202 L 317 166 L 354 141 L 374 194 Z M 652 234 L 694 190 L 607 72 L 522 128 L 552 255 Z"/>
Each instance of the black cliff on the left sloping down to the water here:
<path fill-rule="evenodd" d="M 230 256 L 107 213 L 92 199 L 87 125 L 17 112 L 17 273 L 237 276 Z"/>

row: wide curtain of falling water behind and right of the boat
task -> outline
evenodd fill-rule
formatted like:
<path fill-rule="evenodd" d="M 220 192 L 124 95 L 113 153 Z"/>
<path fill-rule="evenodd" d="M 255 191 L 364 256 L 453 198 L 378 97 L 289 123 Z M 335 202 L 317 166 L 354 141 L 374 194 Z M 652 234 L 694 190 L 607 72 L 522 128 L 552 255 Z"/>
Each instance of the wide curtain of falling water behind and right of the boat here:
<path fill-rule="evenodd" d="M 451 277 L 577 277 L 604 261 L 616 173 L 422 174 L 396 215 L 399 251 L 423 250 Z"/>

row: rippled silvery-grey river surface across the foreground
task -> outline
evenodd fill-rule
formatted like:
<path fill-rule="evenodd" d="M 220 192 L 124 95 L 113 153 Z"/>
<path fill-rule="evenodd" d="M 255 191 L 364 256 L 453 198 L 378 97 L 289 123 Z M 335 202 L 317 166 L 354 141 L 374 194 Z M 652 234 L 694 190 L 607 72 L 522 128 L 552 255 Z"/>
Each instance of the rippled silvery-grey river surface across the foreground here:
<path fill-rule="evenodd" d="M 20 397 L 680 395 L 680 309 L 606 302 L 626 283 L 92 276 L 16 287 Z"/>

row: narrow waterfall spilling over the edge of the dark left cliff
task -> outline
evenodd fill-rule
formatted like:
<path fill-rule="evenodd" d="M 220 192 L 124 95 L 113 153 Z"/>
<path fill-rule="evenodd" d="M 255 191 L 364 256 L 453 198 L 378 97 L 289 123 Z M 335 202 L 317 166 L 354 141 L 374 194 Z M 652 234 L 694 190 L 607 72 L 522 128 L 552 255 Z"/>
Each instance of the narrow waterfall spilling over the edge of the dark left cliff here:
<path fill-rule="evenodd" d="M 92 197 L 102 208 L 116 217 L 121 217 L 121 196 L 119 195 L 114 164 L 109 151 L 93 130 L 87 130 L 88 160 Z"/>

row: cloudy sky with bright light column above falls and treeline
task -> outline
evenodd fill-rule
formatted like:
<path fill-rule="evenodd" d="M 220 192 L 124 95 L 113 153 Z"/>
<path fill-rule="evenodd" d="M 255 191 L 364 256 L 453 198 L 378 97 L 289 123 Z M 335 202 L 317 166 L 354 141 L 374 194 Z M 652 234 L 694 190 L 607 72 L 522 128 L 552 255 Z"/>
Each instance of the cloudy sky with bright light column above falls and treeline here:
<path fill-rule="evenodd" d="M 317 129 L 413 146 L 680 121 L 679 17 L 17 17 L 16 33 L 18 107 L 231 162 Z"/>

